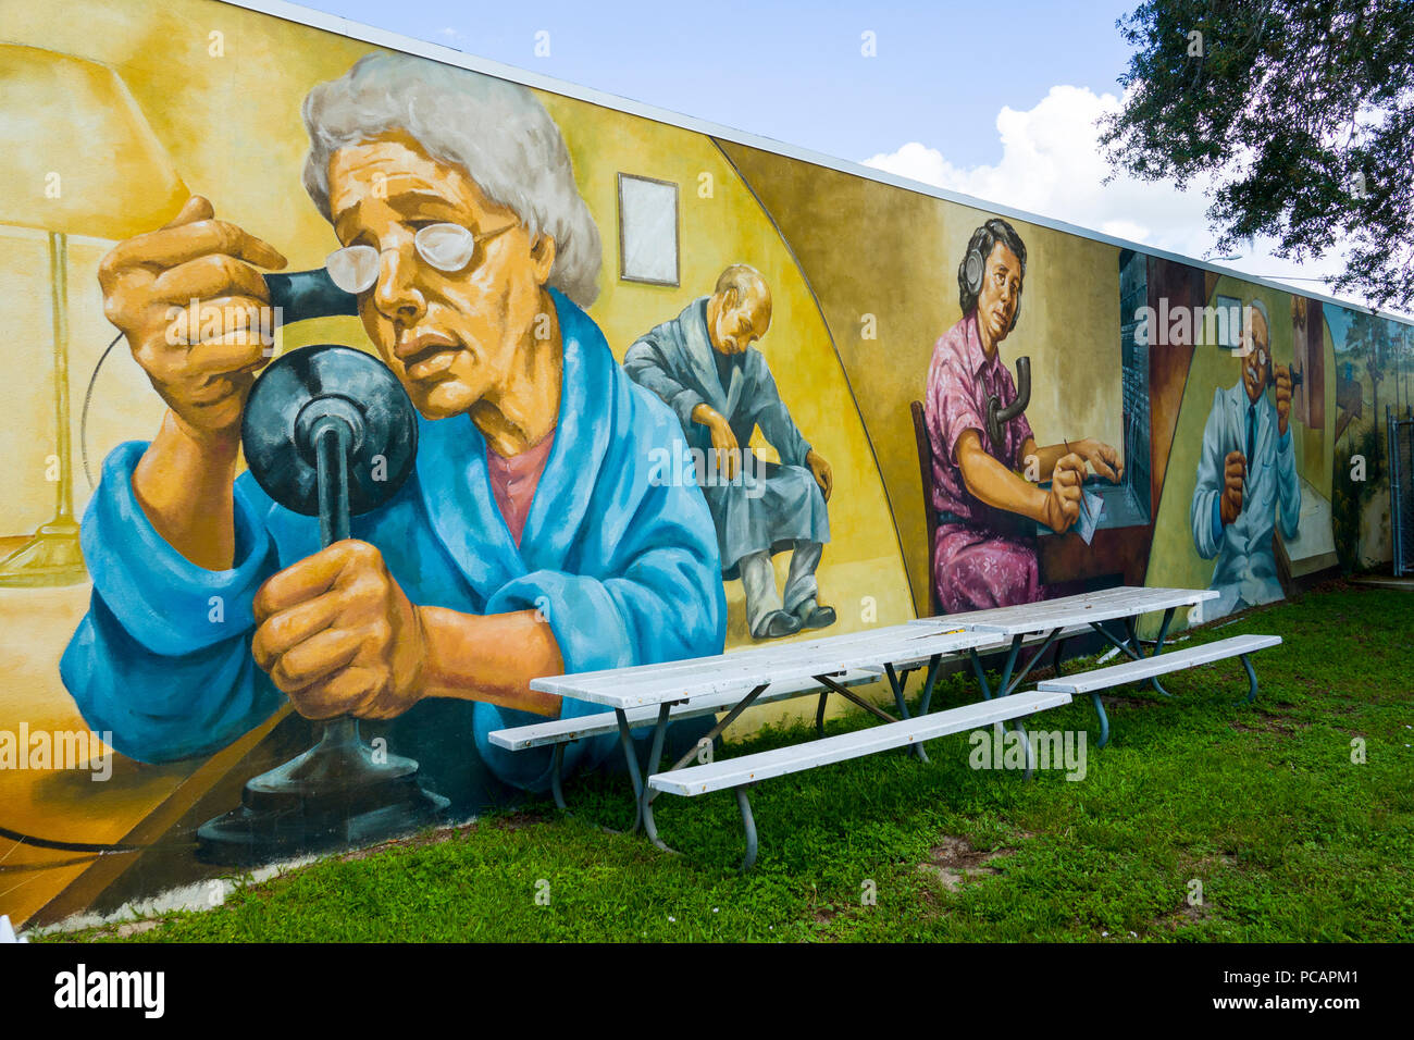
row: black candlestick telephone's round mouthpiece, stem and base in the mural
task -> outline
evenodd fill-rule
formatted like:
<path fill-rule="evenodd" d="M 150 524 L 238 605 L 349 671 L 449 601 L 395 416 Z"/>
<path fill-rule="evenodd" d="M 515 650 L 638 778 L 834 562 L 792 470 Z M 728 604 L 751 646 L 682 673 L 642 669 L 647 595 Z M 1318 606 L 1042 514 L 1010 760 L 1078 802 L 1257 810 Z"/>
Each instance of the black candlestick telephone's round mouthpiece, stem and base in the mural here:
<path fill-rule="evenodd" d="M 271 362 L 250 391 L 242 449 L 276 502 L 320 518 L 320 542 L 392 498 L 411 473 L 417 419 L 397 378 L 349 347 L 305 347 Z M 240 805 L 197 831 L 208 863 L 253 866 L 407 833 L 441 816 L 411 758 L 373 749 L 358 719 L 320 726 L 315 744 L 246 781 Z"/>

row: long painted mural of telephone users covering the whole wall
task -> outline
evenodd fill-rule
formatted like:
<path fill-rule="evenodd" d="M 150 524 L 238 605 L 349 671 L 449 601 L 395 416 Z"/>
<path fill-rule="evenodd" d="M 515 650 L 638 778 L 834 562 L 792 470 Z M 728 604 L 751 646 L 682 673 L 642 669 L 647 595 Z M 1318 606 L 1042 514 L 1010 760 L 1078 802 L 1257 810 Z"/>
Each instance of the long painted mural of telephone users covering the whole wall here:
<path fill-rule="evenodd" d="M 543 792 L 534 676 L 1390 557 L 1406 324 L 216 0 L 0 31 L 17 923 Z"/>

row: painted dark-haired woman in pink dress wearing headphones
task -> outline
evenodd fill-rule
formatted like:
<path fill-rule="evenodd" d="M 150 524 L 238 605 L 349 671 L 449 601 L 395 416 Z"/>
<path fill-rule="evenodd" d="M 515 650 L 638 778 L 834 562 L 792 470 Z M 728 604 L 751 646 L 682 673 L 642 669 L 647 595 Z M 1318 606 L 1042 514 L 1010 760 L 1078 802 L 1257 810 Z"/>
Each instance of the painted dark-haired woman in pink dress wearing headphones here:
<path fill-rule="evenodd" d="M 1036 447 L 1024 412 L 988 430 L 991 402 L 1017 399 L 997 349 L 1017 327 L 1027 246 L 993 218 L 973 232 L 957 267 L 963 316 L 933 345 L 925 413 L 933 460 L 933 583 L 945 613 L 1007 607 L 1044 599 L 1034 524 L 1055 532 L 1080 515 L 1086 466 L 1118 480 L 1118 453 L 1083 439 Z M 1036 481 L 1051 481 L 1051 490 Z"/>

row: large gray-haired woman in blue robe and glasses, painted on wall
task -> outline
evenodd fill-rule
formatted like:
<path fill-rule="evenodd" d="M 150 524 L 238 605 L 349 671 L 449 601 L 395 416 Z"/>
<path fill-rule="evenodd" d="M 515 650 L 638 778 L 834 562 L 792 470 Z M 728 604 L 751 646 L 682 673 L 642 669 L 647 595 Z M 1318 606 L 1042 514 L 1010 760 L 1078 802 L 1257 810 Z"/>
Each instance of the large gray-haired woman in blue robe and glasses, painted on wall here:
<path fill-rule="evenodd" d="M 167 313 L 264 304 L 256 267 L 284 258 L 192 198 L 103 262 L 106 314 L 168 412 L 105 461 L 64 681 L 146 761 L 211 753 L 288 698 L 311 719 L 395 719 L 393 746 L 454 801 L 488 767 L 539 788 L 549 758 L 486 734 L 602 709 L 529 679 L 721 651 L 711 514 L 645 477 L 682 450 L 679 423 L 583 310 L 600 238 L 529 89 L 379 54 L 314 88 L 304 119 L 305 188 L 342 243 L 331 273 L 420 413 L 416 474 L 322 550 L 317 519 L 235 478 L 264 348 L 229 328 L 171 345 Z M 571 744 L 567 765 L 611 743 Z"/>

